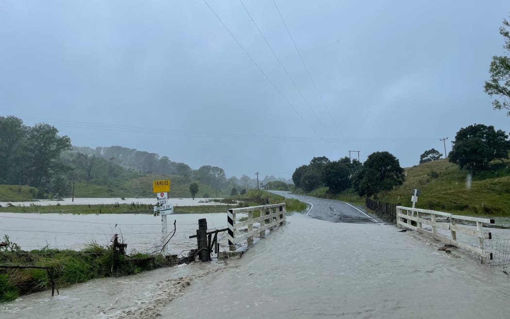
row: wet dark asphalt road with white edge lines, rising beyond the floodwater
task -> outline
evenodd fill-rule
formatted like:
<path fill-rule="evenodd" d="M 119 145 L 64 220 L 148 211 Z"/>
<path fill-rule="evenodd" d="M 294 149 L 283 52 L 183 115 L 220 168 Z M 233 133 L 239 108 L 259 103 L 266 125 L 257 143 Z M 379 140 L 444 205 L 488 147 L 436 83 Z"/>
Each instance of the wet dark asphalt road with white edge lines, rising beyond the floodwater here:
<path fill-rule="evenodd" d="M 270 190 L 270 192 L 311 205 L 307 215 L 317 219 L 338 223 L 380 223 L 380 220 L 376 217 L 349 203 L 296 195 L 286 191 Z"/>

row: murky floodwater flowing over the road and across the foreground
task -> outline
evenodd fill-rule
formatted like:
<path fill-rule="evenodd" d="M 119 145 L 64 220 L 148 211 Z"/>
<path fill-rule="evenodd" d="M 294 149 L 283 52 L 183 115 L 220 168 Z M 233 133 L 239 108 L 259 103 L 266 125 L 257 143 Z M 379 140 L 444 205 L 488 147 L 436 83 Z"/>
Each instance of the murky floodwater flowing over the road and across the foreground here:
<path fill-rule="evenodd" d="M 0 317 L 508 317 L 510 279 L 493 268 L 392 225 L 287 220 L 228 264 L 93 280 L 54 298 L 36 293 L 0 304 Z"/>

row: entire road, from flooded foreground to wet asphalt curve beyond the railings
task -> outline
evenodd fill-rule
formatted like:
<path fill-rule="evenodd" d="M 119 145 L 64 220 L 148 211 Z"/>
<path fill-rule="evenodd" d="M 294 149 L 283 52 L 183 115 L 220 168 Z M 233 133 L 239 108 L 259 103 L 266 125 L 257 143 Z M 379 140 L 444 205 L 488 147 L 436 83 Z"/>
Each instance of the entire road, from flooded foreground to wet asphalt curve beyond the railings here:
<path fill-rule="evenodd" d="M 307 215 L 287 216 L 288 226 L 248 250 L 235 272 L 197 283 L 162 317 L 204 309 L 213 319 L 507 317 L 510 282 L 502 272 L 452 258 L 361 207 L 275 193 L 309 203 Z"/>

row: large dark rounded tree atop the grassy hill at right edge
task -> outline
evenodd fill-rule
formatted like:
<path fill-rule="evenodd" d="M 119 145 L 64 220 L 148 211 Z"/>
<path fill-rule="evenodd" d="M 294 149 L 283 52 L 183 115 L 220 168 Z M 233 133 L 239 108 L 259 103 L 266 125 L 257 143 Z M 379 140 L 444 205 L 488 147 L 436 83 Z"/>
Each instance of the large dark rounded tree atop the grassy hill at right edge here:
<path fill-rule="evenodd" d="M 462 128 L 452 142 L 449 161 L 474 175 L 476 171 L 487 169 L 492 160 L 508 158 L 510 141 L 507 138 L 504 131 L 496 131 L 493 126 L 475 124 Z"/>

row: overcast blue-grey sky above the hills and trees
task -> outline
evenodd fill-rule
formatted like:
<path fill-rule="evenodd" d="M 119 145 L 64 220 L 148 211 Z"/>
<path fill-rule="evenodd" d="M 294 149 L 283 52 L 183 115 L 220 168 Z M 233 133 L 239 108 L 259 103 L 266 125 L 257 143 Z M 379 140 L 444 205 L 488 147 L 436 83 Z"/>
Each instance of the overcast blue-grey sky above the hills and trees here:
<path fill-rule="evenodd" d="M 2 0 L 0 116 L 227 177 L 290 178 L 349 150 L 409 167 L 444 153 L 441 138 L 449 152 L 463 127 L 510 130 L 483 92 L 509 12 L 496 0 Z"/>

